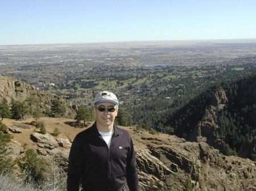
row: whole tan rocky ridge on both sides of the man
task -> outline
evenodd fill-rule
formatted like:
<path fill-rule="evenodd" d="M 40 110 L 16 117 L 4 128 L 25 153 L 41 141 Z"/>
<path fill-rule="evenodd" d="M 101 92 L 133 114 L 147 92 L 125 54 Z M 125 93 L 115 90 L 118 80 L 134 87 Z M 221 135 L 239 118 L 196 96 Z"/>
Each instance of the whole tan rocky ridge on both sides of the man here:
<path fill-rule="evenodd" d="M 27 147 L 32 145 L 49 165 L 53 156 L 57 156 L 62 158 L 61 166 L 67 166 L 73 135 L 65 136 L 65 131 L 70 128 L 76 134 L 84 129 L 67 127 L 65 119 L 43 120 L 47 128 L 45 135 L 36 133 L 32 128 L 10 128 L 18 134 L 13 133 L 13 144 L 9 149 L 16 156 L 22 155 L 27 149 L 23 143 L 26 142 Z M 58 137 L 50 133 L 53 121 L 59 121 L 61 134 Z M 135 128 L 122 128 L 130 132 L 134 141 L 141 190 L 186 190 L 189 184 L 196 191 L 256 190 L 256 163 L 251 160 L 224 156 L 205 142 L 186 142 L 172 135 L 152 135 Z M 27 138 L 26 134 L 29 135 Z"/>

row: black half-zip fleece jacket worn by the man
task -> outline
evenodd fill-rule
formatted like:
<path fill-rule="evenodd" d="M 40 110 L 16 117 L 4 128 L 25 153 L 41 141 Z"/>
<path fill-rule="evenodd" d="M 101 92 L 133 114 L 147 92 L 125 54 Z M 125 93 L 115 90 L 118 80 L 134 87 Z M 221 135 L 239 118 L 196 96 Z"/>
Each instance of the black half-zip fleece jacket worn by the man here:
<path fill-rule="evenodd" d="M 98 133 L 96 122 L 77 134 L 69 153 L 68 191 L 115 191 L 127 182 L 138 191 L 137 163 L 128 131 L 114 125 L 110 148 Z"/>

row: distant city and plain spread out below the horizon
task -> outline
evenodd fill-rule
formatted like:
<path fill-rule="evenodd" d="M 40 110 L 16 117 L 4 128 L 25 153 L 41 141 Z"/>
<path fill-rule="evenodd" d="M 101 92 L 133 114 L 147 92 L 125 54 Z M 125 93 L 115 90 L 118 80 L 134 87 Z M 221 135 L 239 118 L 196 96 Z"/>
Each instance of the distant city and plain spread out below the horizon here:
<path fill-rule="evenodd" d="M 198 84 L 226 69 L 255 70 L 256 40 L 149 41 L 98 44 L 0 46 L 0 75 L 68 99 L 92 99 L 109 89 L 158 95 L 168 81 L 191 75 Z M 163 81 L 164 82 L 161 82 Z M 171 95 L 170 95 L 171 97 Z"/>

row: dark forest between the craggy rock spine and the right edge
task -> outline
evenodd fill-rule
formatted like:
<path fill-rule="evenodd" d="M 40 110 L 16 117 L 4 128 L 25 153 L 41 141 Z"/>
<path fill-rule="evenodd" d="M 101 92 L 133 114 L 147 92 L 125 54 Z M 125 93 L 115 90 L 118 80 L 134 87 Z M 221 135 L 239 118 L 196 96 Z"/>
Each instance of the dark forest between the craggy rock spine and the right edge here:
<path fill-rule="evenodd" d="M 217 114 L 218 134 L 231 148 L 238 150 L 243 142 L 256 136 L 256 75 L 223 82 L 222 86 L 229 101 Z"/>

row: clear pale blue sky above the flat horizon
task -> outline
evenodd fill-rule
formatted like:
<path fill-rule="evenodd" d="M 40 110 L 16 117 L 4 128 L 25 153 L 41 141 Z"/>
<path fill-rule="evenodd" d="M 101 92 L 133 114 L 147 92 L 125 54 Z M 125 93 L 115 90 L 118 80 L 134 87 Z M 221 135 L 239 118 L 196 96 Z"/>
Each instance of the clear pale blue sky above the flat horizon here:
<path fill-rule="evenodd" d="M 255 39 L 255 7 L 255 0 L 2 0 L 0 45 Z"/>

